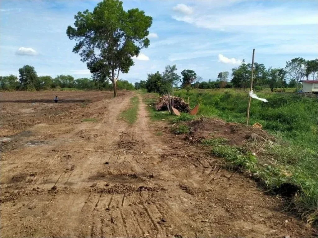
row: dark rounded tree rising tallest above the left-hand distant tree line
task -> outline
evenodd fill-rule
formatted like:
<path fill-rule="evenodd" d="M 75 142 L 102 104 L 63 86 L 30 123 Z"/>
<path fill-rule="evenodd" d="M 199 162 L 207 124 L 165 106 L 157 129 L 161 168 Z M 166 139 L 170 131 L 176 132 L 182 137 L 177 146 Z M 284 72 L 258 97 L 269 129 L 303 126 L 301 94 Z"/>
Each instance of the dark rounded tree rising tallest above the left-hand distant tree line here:
<path fill-rule="evenodd" d="M 34 67 L 30 65 L 24 65 L 19 69 L 19 80 L 23 90 L 35 90 L 37 79 L 38 75 Z"/>

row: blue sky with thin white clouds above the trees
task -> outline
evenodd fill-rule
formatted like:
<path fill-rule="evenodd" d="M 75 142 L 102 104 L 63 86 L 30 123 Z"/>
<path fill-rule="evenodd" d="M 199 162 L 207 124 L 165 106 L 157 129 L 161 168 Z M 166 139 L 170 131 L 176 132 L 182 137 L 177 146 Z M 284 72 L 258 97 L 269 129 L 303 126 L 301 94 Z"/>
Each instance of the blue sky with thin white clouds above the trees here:
<path fill-rule="evenodd" d="M 318 58 L 318 1 L 124 0 L 153 17 L 150 46 L 121 78 L 135 83 L 147 73 L 176 64 L 204 80 L 230 71 L 241 60 L 268 68 L 284 67 L 294 57 Z M 89 77 L 72 52 L 66 28 L 78 11 L 98 1 L 0 1 L 0 75 L 18 75 L 26 64 L 39 76 Z"/>

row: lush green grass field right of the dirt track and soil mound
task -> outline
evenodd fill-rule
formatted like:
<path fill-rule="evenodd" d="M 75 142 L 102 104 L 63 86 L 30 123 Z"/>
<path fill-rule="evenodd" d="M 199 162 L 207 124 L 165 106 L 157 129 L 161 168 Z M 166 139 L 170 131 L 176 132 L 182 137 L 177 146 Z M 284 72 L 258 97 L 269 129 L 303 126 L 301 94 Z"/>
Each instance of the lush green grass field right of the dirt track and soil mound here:
<path fill-rule="evenodd" d="M 190 96 L 191 107 L 199 103 L 198 115 L 246 122 L 247 91 L 179 90 L 175 95 Z M 257 95 L 269 102 L 252 99 L 250 125 L 259 122 L 277 138 L 277 142 L 265 144 L 259 155 L 262 161 L 268 160 L 269 167 L 251 163 L 249 155 L 214 141 L 210 142 L 216 145 L 212 153 L 224 157 L 230 165 L 251 169 L 270 189 L 285 182 L 298 186 L 301 193 L 294 198 L 292 208 L 308 223 L 318 221 L 318 99 L 291 92 L 261 91 Z"/>

